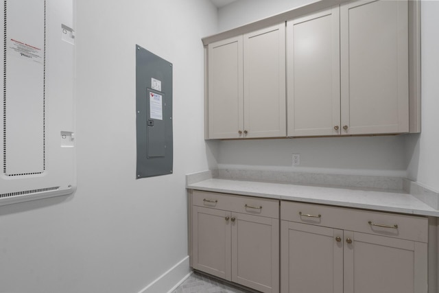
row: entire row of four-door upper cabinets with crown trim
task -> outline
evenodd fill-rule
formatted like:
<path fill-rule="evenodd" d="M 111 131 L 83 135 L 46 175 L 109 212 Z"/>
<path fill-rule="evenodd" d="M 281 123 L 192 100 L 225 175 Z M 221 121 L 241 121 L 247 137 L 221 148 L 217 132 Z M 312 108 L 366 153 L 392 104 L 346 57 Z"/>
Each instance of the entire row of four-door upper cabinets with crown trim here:
<path fill-rule="evenodd" d="M 339 2 L 204 40 L 206 139 L 420 132 L 419 2 Z"/>

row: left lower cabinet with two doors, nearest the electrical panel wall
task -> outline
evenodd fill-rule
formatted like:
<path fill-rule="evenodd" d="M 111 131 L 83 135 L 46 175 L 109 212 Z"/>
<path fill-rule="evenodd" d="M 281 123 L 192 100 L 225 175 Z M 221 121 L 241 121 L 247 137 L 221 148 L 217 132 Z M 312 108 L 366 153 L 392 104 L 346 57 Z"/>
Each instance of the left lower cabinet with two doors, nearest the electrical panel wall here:
<path fill-rule="evenodd" d="M 191 263 L 260 292 L 279 292 L 278 200 L 191 191 Z"/>

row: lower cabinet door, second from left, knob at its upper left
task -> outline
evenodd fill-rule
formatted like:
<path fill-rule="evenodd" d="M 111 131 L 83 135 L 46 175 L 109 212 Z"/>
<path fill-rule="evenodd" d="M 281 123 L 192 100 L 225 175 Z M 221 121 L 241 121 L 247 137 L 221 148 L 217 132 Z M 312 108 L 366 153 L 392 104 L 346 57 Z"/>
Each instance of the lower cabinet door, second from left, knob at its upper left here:
<path fill-rule="evenodd" d="M 232 213 L 232 281 L 279 292 L 279 220 Z"/>

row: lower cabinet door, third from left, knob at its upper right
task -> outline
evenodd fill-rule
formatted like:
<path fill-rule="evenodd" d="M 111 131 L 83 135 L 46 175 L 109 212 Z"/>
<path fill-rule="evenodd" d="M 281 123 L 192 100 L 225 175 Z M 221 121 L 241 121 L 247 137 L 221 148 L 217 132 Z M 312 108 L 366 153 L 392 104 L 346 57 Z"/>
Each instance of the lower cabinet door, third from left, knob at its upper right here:
<path fill-rule="evenodd" d="M 282 293 L 343 293 L 342 230 L 281 221 L 281 237 Z"/>

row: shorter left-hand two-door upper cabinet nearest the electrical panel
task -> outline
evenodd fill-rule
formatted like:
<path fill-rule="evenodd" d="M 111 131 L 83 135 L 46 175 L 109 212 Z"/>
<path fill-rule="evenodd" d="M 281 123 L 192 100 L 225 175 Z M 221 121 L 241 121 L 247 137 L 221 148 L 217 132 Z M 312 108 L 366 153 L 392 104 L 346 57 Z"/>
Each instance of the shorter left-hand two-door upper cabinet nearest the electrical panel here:
<path fill-rule="evenodd" d="M 285 137 L 285 23 L 207 51 L 206 139 Z"/>

